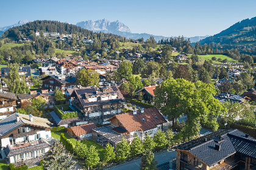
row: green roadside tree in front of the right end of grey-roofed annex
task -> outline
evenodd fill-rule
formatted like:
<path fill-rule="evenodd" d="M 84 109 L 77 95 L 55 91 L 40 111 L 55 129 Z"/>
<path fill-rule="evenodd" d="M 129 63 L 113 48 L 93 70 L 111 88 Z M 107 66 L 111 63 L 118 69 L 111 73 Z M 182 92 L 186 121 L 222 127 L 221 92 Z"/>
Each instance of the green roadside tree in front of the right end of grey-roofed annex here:
<path fill-rule="evenodd" d="M 127 157 L 130 155 L 130 144 L 126 139 L 122 139 L 122 141 L 116 144 L 116 159 L 119 160 L 126 160 Z"/>

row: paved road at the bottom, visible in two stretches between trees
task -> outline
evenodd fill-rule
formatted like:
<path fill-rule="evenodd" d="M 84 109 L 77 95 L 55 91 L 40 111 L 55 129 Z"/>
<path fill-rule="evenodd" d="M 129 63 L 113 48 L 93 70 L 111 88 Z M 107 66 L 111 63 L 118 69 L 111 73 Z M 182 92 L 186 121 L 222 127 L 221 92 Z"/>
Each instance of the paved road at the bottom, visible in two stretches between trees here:
<path fill-rule="evenodd" d="M 164 151 L 158 154 L 155 154 L 155 160 L 158 161 L 158 165 L 166 163 L 172 158 L 176 157 L 176 151 Z M 122 165 L 114 166 L 112 168 L 108 168 L 108 170 L 139 170 L 140 169 L 141 159 L 129 161 Z"/>

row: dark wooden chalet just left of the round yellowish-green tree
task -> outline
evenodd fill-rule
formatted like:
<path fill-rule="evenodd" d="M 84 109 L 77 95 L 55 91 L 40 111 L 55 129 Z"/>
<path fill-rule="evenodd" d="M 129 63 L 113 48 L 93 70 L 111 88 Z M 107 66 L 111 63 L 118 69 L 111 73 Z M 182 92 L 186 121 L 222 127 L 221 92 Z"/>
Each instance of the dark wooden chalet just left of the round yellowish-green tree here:
<path fill-rule="evenodd" d="M 64 92 L 65 89 L 74 87 L 76 83 L 76 77 L 74 75 L 48 75 L 41 78 L 41 80 L 43 80 L 43 89 L 55 90 L 57 87 L 62 90 L 62 92 Z"/>

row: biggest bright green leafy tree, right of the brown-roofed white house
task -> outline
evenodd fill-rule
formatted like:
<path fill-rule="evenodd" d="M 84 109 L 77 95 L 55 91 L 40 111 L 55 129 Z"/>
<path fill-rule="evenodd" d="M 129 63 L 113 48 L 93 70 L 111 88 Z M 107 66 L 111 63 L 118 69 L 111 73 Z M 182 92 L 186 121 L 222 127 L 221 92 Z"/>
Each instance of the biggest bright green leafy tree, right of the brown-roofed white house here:
<path fill-rule="evenodd" d="M 184 137 L 188 139 L 198 134 L 201 123 L 207 124 L 215 131 L 218 129 L 217 118 L 226 109 L 213 95 L 216 95 L 216 90 L 212 84 L 169 78 L 156 87 L 155 106 L 172 124 L 176 118 L 187 115 L 184 130 L 187 135 Z"/>

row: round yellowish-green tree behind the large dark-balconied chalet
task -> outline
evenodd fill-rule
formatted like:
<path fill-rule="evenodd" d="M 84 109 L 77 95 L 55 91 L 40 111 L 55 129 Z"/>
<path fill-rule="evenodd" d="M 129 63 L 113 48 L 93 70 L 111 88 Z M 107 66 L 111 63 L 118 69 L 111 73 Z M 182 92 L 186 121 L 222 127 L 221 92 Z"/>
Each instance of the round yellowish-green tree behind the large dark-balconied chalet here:
<path fill-rule="evenodd" d="M 99 86 L 99 73 L 92 69 L 82 69 L 76 74 L 76 83 L 83 86 Z"/>

